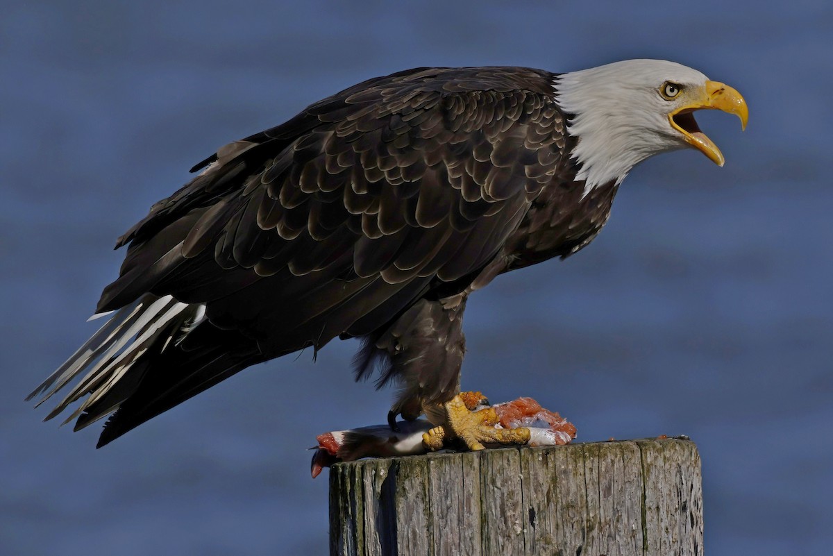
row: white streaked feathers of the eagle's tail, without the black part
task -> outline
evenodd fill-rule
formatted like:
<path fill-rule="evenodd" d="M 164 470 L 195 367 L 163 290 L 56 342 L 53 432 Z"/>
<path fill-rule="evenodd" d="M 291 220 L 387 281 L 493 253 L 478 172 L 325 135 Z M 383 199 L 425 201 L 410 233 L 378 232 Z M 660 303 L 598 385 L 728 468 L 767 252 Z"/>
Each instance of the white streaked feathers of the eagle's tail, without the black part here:
<path fill-rule="evenodd" d="M 164 350 L 171 340 L 182 341 L 182 338 L 204 319 L 205 305 L 180 303 L 170 295 L 164 297 L 143 295 L 131 305 L 115 311 L 115 314 L 84 345 L 47 380 L 44 380 L 32 394 L 28 395 L 27 400 L 40 395 L 41 400 L 38 400 L 37 405 L 41 405 L 89 369 L 82 380 L 44 419 L 52 419 L 67 409 L 68 405 L 80 400 L 84 395 L 89 395 L 87 400 L 64 421 L 67 423 L 97 401 L 102 400 L 118 381 L 130 372 L 132 365 L 157 340 L 161 339 L 162 335 L 166 335 L 162 343 L 162 350 Z M 97 413 L 103 417 L 117 410 L 122 401 L 115 400 L 112 407 L 97 410 Z"/>

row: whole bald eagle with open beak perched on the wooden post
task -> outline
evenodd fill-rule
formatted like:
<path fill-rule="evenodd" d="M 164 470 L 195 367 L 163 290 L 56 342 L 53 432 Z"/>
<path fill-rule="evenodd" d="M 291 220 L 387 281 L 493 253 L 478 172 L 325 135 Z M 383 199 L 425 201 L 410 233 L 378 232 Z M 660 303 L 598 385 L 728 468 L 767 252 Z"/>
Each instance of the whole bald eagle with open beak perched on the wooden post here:
<path fill-rule="evenodd" d="M 109 320 L 29 399 L 80 378 L 47 419 L 87 396 L 67 421 L 112 414 L 102 446 L 250 365 L 359 338 L 357 379 L 399 386 L 393 426 L 425 413 L 479 449 L 495 439 L 461 407 L 468 296 L 585 247 L 650 156 L 691 146 L 722 165 L 703 108 L 746 126 L 735 89 L 660 60 L 349 87 L 223 146 L 120 237 Z"/>

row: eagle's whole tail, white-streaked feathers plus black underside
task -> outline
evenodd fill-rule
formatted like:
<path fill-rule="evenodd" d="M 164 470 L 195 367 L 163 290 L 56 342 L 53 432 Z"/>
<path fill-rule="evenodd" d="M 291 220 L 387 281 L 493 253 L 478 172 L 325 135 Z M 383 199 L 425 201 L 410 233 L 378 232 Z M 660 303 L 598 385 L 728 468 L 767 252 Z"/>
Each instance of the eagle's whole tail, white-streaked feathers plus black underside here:
<path fill-rule="evenodd" d="M 99 441 L 99 445 L 107 444 L 153 415 L 162 413 L 245 366 L 239 364 L 239 353 L 216 338 L 212 339 L 212 343 L 198 341 L 194 348 L 186 350 L 185 346 L 192 336 L 202 335 L 194 334 L 197 330 L 222 332 L 211 325 L 199 326 L 203 321 L 204 305 L 180 303 L 170 295 L 143 295 L 117 310 L 84 345 L 33 390 L 27 400 L 39 395 L 41 399 L 37 405 L 41 405 L 72 380 L 82 377 L 44 420 L 56 417 L 69 405 L 88 395 L 63 424 L 77 418 L 74 429 L 79 430 L 119 410 L 109 419 Z M 167 380 L 160 380 L 160 375 L 163 379 L 167 377 Z M 212 380 L 217 376 L 222 378 Z M 153 391 L 152 395 L 142 395 L 147 392 L 148 380 L 160 390 Z M 160 385 L 160 382 L 169 384 Z M 202 386 L 206 382 L 210 384 Z M 184 395 L 183 389 L 189 394 Z M 172 399 L 178 401 L 170 403 Z M 124 405 L 131 406 L 133 410 L 122 412 Z M 163 409 L 159 409 L 162 406 Z M 136 415 L 146 414 L 148 409 L 155 411 L 136 422 Z M 121 418 L 118 418 L 119 414 L 122 414 Z M 131 419 L 126 419 L 128 415 Z M 125 428 L 122 423 L 126 421 L 135 424 Z M 104 441 L 105 435 L 109 438 L 107 441 Z"/>

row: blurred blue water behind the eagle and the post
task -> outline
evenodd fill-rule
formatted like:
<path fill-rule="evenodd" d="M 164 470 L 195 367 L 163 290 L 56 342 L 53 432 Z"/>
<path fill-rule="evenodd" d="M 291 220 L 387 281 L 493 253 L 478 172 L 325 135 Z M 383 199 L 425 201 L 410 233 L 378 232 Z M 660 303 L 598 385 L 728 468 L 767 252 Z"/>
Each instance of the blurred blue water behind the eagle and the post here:
<path fill-rule="evenodd" d="M 357 344 L 247 370 L 95 450 L 23 397 L 100 323 L 115 238 L 218 146 L 416 66 L 696 67 L 751 110 L 647 161 L 586 251 L 466 311 L 463 386 L 581 441 L 689 434 L 706 554 L 833 544 L 831 2 L 2 2 L 3 554 L 327 554 L 317 434 L 381 422 Z"/>

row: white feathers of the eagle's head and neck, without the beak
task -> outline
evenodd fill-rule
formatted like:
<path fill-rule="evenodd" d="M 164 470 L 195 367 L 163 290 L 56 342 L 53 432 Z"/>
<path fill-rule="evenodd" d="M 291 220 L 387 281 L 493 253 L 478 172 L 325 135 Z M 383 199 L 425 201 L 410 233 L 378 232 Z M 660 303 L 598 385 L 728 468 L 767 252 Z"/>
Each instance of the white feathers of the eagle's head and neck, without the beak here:
<path fill-rule="evenodd" d="M 572 157 L 585 195 L 596 186 L 625 179 L 641 161 L 685 148 L 669 125 L 674 105 L 660 94 L 666 82 L 702 86 L 707 77 L 665 60 L 626 60 L 564 73 L 553 84 L 561 110 L 573 115 L 568 132 L 578 137 Z"/>

